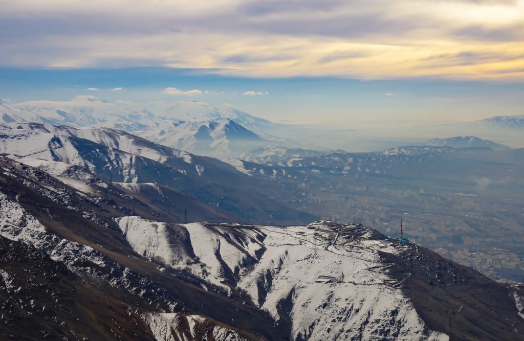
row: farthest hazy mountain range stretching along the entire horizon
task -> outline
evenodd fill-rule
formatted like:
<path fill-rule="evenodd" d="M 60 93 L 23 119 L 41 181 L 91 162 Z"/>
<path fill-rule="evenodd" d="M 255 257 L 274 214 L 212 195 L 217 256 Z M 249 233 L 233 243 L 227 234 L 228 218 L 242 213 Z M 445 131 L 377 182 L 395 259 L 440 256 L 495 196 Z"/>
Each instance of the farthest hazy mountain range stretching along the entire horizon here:
<path fill-rule="evenodd" d="M 330 126 L 277 124 L 249 115 L 231 105 L 213 106 L 203 102 L 180 101 L 167 109 L 123 101 L 114 103 L 91 95 L 76 96 L 71 101 L 28 101 L 14 105 L 0 102 L 0 121 L 33 122 L 51 125 L 110 127 L 125 130 L 160 144 L 220 159 L 237 157 L 250 149 L 268 145 L 286 148 L 378 150 L 406 145 L 402 137 L 412 135 L 413 142 L 453 132 L 474 134 L 511 146 L 521 144 L 521 116 L 495 116 L 472 122 L 413 128 L 388 128 L 384 133 L 399 135 L 381 140 L 374 130 L 336 129 Z M 406 133 L 406 129 L 409 133 Z M 521 134 L 520 134 L 521 135 Z M 329 136 L 329 138 L 328 138 Z M 304 138 L 307 137 L 307 138 Z M 416 137 L 416 138 L 415 138 Z M 333 141 L 339 141 L 336 147 Z M 413 143 L 411 142 L 411 143 Z M 494 142 L 495 143 L 495 142 Z"/>

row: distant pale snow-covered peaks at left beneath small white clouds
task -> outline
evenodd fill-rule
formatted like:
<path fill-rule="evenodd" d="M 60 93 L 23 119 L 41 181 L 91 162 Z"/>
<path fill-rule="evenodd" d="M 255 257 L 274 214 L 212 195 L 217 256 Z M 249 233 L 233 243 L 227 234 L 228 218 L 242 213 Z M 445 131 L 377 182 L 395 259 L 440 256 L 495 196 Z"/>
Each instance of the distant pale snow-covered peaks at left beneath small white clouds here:
<path fill-rule="evenodd" d="M 121 129 L 169 147 L 223 158 L 260 146 L 263 141 L 259 135 L 278 140 L 264 133 L 275 126 L 266 119 L 232 106 L 218 108 L 201 102 L 177 102 L 165 112 L 154 114 L 85 95 L 71 101 L 29 101 L 14 106 L 0 102 L 0 115 L 3 123 Z"/>

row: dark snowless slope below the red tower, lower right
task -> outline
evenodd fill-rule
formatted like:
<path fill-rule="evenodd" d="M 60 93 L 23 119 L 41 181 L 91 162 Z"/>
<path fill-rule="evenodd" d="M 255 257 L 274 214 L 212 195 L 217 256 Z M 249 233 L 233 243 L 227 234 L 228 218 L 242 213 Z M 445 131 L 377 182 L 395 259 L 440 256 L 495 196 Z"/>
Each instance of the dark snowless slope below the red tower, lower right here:
<path fill-rule="evenodd" d="M 430 328 L 455 340 L 524 338 L 522 306 L 516 300 L 522 288 L 490 281 L 420 246 L 411 245 L 402 254 L 381 255 L 395 263 L 390 270 L 393 278 L 411 274 L 405 293 Z M 512 313 L 502 316 L 497 311 Z"/>

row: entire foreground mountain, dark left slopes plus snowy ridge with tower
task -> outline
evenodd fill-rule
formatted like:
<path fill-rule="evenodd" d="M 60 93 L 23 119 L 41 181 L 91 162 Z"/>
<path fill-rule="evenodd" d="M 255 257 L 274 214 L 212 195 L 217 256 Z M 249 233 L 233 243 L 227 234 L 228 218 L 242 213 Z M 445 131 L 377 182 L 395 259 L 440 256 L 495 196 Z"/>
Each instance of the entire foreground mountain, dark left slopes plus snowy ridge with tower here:
<path fill-rule="evenodd" d="M 366 226 L 180 224 L 117 184 L 0 170 L 10 339 L 523 339 L 522 289 Z"/>

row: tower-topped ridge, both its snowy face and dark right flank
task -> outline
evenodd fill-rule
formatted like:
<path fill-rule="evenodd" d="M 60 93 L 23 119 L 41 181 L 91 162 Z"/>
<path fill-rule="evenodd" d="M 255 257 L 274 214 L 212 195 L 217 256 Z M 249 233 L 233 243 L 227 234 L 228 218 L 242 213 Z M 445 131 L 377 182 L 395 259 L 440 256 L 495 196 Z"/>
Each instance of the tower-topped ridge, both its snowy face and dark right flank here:
<path fill-rule="evenodd" d="M 524 339 L 522 307 L 513 298 L 520 289 L 363 226 L 333 224 L 330 232 L 322 225 L 174 225 L 139 217 L 119 224 L 147 257 L 245 290 L 276 320 L 291 323 L 292 339 Z M 492 323 L 482 326 L 480 316 Z"/>

